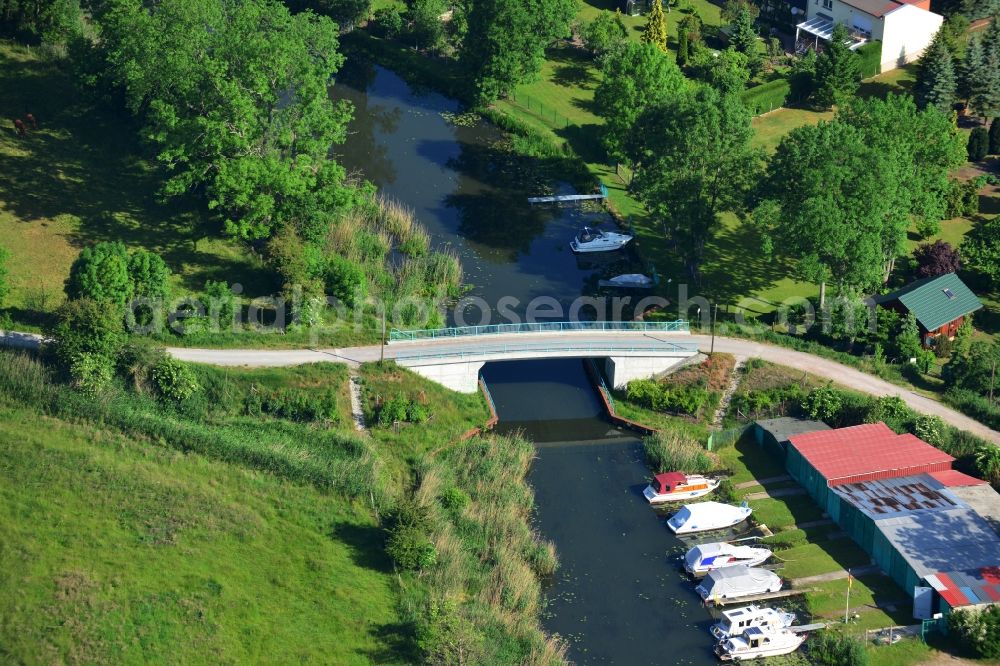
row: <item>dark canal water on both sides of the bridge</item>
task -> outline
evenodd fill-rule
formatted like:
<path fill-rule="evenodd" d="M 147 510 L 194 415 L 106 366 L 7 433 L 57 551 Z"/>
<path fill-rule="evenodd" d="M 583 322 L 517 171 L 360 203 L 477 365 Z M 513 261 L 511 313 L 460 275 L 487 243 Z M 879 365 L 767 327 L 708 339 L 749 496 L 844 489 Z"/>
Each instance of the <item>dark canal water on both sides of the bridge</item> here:
<path fill-rule="evenodd" d="M 566 304 L 592 294 L 598 277 L 634 272 L 578 261 L 570 239 L 607 215 L 529 206 L 542 183 L 495 150 L 494 128 L 453 122 L 452 100 L 357 64 L 333 96 L 355 106 L 342 162 L 416 211 L 435 244 L 459 255 L 473 295 L 491 305 L 504 296 L 522 308 L 536 296 Z M 642 443 L 607 419 L 583 362 L 491 363 L 483 376 L 498 428 L 538 450 L 536 528 L 560 560 L 547 582 L 546 630 L 580 664 L 712 663 L 709 614 L 677 562 L 685 545 L 641 495 Z"/>

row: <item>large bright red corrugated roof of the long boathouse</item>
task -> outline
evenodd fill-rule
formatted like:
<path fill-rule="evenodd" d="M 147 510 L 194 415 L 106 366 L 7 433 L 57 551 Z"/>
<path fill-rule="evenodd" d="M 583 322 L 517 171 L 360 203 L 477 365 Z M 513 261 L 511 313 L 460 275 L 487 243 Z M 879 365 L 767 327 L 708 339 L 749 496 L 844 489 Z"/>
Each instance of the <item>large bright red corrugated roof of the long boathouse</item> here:
<path fill-rule="evenodd" d="M 836 486 L 871 478 L 913 476 L 954 458 L 913 435 L 897 435 L 884 423 L 793 435 L 788 441 Z"/>

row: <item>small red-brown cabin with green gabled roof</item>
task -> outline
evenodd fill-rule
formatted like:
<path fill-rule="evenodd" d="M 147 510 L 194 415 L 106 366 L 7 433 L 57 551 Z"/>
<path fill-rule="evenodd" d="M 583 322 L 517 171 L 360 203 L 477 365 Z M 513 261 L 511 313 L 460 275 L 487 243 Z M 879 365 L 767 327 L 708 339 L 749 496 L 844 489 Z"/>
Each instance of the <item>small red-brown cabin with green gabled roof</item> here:
<path fill-rule="evenodd" d="M 876 296 L 875 303 L 904 316 L 912 313 L 928 347 L 939 336 L 954 338 L 965 318 L 983 307 L 954 273 L 911 282 L 890 294 Z"/>

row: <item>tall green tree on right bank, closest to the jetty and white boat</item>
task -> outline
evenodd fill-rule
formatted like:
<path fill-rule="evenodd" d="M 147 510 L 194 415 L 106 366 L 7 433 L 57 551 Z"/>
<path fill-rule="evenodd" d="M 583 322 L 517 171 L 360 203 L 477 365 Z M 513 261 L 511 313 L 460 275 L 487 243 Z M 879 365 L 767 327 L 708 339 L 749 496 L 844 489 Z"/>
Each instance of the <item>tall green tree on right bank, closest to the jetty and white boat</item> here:
<path fill-rule="evenodd" d="M 719 214 L 742 210 L 763 155 L 750 147 L 750 113 L 737 95 L 697 86 L 647 109 L 636 122 L 633 188 L 700 280 Z"/>

